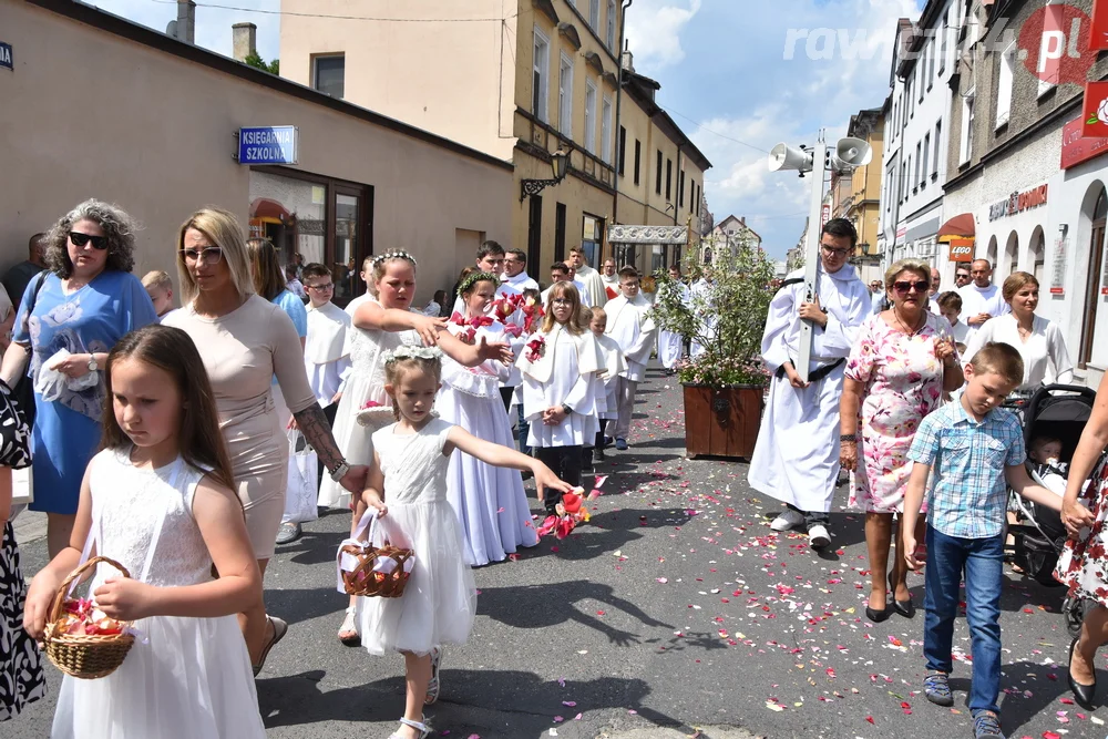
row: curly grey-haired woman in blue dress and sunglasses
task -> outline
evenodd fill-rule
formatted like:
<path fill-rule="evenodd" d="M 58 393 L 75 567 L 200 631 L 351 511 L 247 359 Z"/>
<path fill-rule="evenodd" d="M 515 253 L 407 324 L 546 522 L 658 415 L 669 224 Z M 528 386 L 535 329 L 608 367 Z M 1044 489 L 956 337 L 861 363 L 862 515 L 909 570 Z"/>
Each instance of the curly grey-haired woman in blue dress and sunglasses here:
<path fill-rule="evenodd" d="M 136 225 L 122 209 L 85 201 L 45 237 L 47 270 L 22 296 L 0 378 L 14 387 L 24 373 L 35 387 L 43 366 L 66 377 L 60 393 L 34 393 L 34 502 L 47 514 L 50 556 L 70 544 L 84 469 L 100 443 L 106 391 L 100 374 L 125 333 L 157 320 L 134 267 Z M 64 349 L 63 359 L 54 357 Z M 54 361 L 51 361 L 54 360 Z M 99 381 L 89 383 L 90 373 Z M 78 546 L 82 546 L 80 542 Z"/>

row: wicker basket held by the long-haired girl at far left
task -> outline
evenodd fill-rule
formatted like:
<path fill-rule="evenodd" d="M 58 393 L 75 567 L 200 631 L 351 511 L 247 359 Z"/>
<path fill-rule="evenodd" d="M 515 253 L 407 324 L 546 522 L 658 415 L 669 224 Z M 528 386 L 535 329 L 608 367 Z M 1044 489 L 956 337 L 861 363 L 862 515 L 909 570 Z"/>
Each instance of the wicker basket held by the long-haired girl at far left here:
<path fill-rule="evenodd" d="M 50 623 L 47 624 L 43 635 L 43 643 L 47 647 L 47 656 L 58 669 L 84 679 L 106 677 L 114 673 L 134 644 L 135 637 L 126 630 L 127 624 L 122 626 L 124 630 L 120 634 L 62 634 L 59 622 L 62 618 L 62 607 L 69 593 L 70 583 L 80 577 L 86 569 L 104 562 L 112 565 L 124 577 L 130 577 L 131 573 L 126 567 L 109 557 L 92 557 L 80 567 L 70 573 L 69 577 L 62 581 L 58 594 L 54 596 L 53 607 L 50 609 Z"/>

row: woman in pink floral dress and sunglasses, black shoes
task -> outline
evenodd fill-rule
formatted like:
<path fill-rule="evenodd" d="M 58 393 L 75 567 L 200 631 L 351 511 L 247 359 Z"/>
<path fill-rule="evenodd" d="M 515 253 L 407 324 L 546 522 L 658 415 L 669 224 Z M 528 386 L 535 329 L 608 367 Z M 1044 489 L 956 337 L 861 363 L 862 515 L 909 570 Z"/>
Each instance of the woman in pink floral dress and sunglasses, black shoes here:
<path fill-rule="evenodd" d="M 850 505 L 865 511 L 870 555 L 865 615 L 874 623 L 890 616 L 889 591 L 896 613 L 911 618 L 915 610 L 903 554 L 893 558 L 889 572 L 893 514 L 904 511 L 912 470 L 907 452 L 920 422 L 938 407 L 944 390 L 956 390 L 965 379 L 950 324 L 927 309 L 930 287 L 931 266 L 925 261 L 904 259 L 885 273 L 892 306 L 862 326 L 847 362 L 840 400 L 840 461 L 853 473 Z M 916 541 L 923 541 L 922 536 L 921 526 Z M 900 553 L 899 530 L 896 541 Z"/>

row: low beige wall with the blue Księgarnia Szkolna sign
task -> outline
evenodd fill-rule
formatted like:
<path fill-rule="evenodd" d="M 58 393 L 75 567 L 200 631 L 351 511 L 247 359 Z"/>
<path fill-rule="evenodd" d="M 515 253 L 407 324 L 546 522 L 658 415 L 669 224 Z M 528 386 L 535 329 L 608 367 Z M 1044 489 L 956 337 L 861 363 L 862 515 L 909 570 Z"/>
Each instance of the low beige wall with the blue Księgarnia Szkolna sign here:
<path fill-rule="evenodd" d="M 95 196 L 144 224 L 135 271 L 173 274 L 176 232 L 196 208 L 228 208 L 246 226 L 250 170 L 232 155 L 233 134 L 247 125 L 296 125 L 293 170 L 373 187 L 375 250 L 416 255 L 418 300 L 453 284 L 459 229 L 510 237 L 510 167 L 375 124 L 325 97 L 281 92 L 261 83 L 264 73 L 248 72 L 258 80 L 252 82 L 199 63 L 235 64 L 78 3 L 58 6 L 126 27 L 130 38 L 3 2 L 17 68 L 0 74 L 0 172 L 9 183 L 0 198 L 0 268 L 25 257 L 30 234 Z"/>

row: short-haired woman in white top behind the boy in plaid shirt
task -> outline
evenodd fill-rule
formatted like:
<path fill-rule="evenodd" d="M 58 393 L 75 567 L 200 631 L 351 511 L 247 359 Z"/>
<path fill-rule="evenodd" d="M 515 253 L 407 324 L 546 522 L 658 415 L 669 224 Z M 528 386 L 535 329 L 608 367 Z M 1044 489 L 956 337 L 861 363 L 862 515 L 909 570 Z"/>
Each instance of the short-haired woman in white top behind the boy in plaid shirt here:
<path fill-rule="evenodd" d="M 1066 384 L 1074 381 L 1074 363 L 1066 350 L 1061 330 L 1046 318 L 1035 315 L 1038 308 L 1038 280 L 1025 271 L 1013 273 L 1004 280 L 1001 295 L 1012 312 L 987 321 L 970 337 L 966 361 L 989 341 L 1001 341 L 1016 348 L 1024 360 L 1024 381 L 1015 393 L 1030 396 L 1045 382 Z"/>

